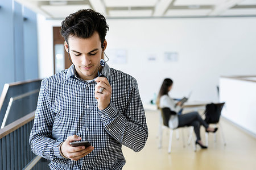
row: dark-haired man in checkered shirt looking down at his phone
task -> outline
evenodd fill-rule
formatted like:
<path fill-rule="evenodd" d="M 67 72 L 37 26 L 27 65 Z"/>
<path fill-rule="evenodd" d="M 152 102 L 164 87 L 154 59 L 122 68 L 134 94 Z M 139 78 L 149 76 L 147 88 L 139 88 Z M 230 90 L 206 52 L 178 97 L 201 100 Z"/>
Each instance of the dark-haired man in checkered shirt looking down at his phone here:
<path fill-rule="evenodd" d="M 135 152 L 148 130 L 137 81 L 104 60 L 109 27 L 93 10 L 79 10 L 61 23 L 73 65 L 42 81 L 31 150 L 51 169 L 122 169 L 122 144 Z M 69 143 L 87 140 L 89 147 Z"/>

